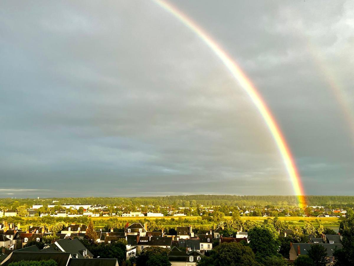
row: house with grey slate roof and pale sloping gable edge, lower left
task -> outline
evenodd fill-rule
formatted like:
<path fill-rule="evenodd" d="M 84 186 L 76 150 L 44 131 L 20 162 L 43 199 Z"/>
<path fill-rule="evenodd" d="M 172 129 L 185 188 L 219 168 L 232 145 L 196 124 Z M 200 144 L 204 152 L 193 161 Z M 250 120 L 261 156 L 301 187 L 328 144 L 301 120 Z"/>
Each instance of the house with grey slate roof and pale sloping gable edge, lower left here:
<path fill-rule="evenodd" d="M 90 250 L 82 245 L 79 239 L 75 238 L 70 240 L 68 238 L 57 240 L 56 242 L 49 244 L 40 250 L 40 252 L 69 252 L 72 257 L 76 258 L 89 258 L 92 259 L 93 255 Z"/>

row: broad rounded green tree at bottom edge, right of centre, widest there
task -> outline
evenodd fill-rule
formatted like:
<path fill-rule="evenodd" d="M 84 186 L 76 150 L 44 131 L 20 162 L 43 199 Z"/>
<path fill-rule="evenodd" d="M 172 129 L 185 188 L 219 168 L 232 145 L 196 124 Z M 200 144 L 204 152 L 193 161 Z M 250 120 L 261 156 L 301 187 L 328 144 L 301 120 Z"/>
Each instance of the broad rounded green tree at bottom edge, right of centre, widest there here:
<path fill-rule="evenodd" d="M 198 266 L 257 266 L 260 265 L 249 246 L 237 242 L 222 243 L 209 257 L 202 256 Z"/>

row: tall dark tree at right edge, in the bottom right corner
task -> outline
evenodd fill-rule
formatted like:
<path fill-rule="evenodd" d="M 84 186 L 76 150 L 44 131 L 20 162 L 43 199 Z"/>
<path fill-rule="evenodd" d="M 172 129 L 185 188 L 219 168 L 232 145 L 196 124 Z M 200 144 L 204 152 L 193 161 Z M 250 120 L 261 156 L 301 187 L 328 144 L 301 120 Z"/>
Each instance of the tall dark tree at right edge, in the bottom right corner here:
<path fill-rule="evenodd" d="M 346 220 L 339 225 L 342 235 L 342 249 L 336 250 L 336 265 L 354 265 L 354 212 L 347 210 Z"/>

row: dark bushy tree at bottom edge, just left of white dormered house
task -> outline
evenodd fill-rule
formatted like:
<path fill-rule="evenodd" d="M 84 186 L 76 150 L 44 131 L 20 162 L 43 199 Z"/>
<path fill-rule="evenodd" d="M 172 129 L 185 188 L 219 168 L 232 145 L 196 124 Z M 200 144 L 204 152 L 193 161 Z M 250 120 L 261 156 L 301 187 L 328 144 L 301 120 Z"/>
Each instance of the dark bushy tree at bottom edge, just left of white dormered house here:
<path fill-rule="evenodd" d="M 136 256 L 136 266 L 170 266 L 168 259 L 170 249 L 150 246 Z"/>

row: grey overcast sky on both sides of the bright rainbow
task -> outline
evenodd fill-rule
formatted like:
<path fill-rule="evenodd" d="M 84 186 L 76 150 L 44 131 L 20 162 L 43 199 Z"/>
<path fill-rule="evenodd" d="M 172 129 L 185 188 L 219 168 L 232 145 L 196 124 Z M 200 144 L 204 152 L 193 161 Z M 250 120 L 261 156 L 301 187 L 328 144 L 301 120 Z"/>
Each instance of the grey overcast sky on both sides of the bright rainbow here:
<path fill-rule="evenodd" d="M 258 88 L 310 195 L 354 195 L 354 2 L 173 1 Z M 1 1 L 0 197 L 291 195 L 213 52 L 152 1 Z"/>

